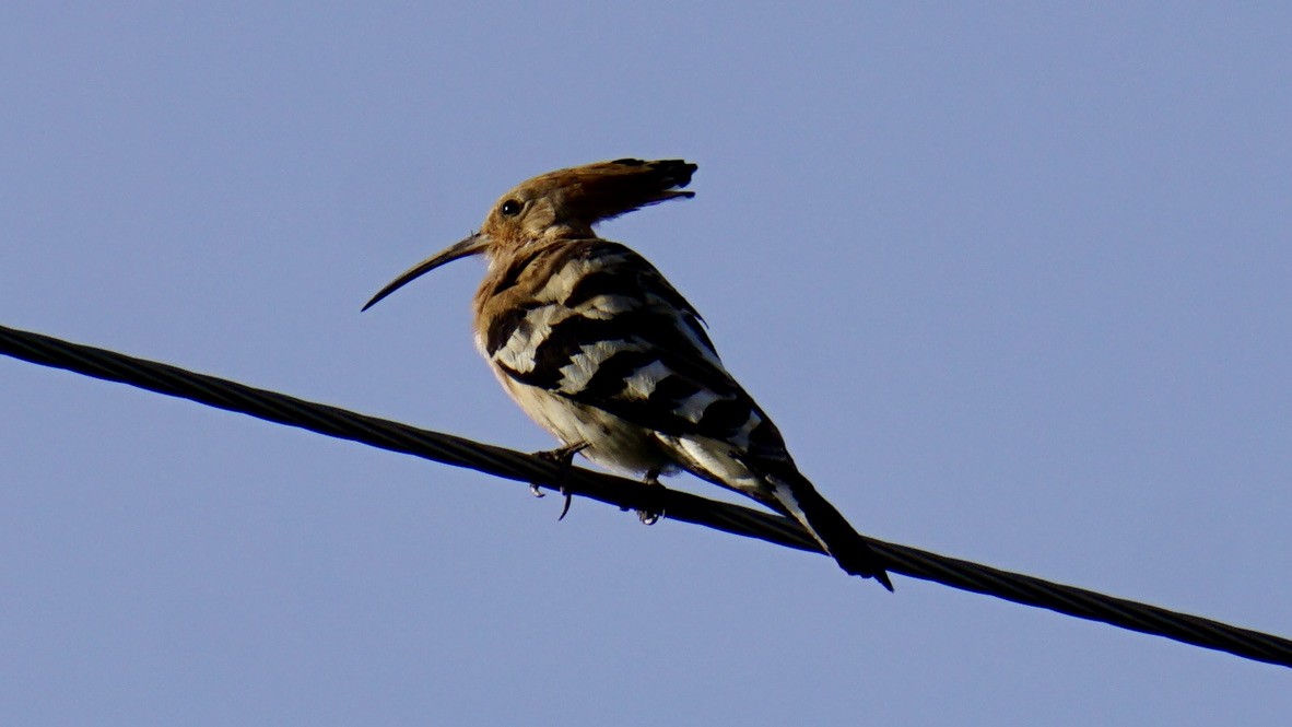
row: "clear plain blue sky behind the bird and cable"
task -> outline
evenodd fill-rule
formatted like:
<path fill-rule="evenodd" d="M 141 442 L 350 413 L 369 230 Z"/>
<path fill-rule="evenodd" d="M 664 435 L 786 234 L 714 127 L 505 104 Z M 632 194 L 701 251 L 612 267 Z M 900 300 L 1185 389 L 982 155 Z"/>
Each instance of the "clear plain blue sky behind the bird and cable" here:
<path fill-rule="evenodd" d="M 521 179 L 682 156 L 602 234 L 859 528 L 1292 634 L 1286 5 L 54 5 L 0 9 L 0 324 L 549 448 L 478 261 L 359 306 Z M 0 412 L 5 724 L 1292 714 L 1287 669 L 12 359 Z"/>

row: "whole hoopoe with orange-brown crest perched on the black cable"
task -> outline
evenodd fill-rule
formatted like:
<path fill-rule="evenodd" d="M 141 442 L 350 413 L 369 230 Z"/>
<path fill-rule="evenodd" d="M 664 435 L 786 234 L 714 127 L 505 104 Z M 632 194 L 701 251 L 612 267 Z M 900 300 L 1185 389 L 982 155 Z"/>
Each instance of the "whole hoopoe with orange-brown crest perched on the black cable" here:
<path fill-rule="evenodd" d="M 792 517 L 853 575 L 893 590 L 866 541 L 795 466 L 775 425 L 727 373 L 700 314 L 632 249 L 592 226 L 669 199 L 695 164 L 619 159 L 522 182 L 481 230 L 419 262 L 367 310 L 446 262 L 483 253 L 475 345 L 535 421 L 594 462 L 686 470 Z"/>

